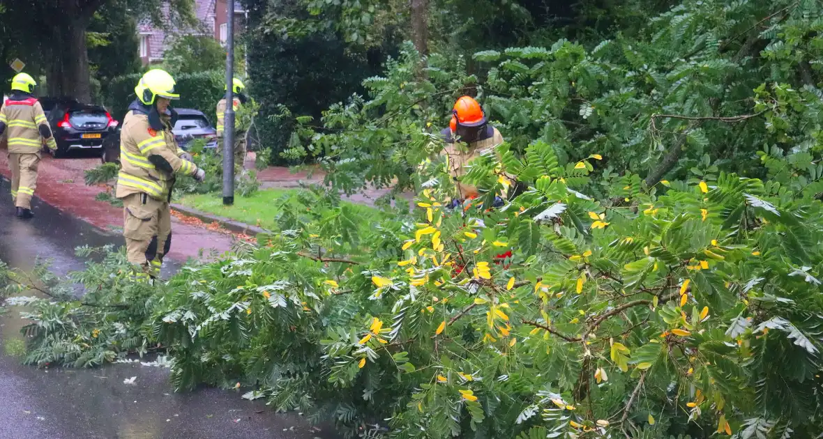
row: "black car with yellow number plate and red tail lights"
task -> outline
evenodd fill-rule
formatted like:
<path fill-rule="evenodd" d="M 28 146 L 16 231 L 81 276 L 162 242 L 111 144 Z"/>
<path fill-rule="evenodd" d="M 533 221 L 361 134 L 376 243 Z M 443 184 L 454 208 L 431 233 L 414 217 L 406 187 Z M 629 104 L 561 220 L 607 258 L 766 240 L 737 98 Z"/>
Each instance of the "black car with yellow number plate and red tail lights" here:
<path fill-rule="evenodd" d="M 57 158 L 74 149 L 95 149 L 102 154 L 105 137 L 119 125 L 100 105 L 81 104 L 74 99 L 58 99 L 46 118 L 57 141 L 53 153 Z"/>

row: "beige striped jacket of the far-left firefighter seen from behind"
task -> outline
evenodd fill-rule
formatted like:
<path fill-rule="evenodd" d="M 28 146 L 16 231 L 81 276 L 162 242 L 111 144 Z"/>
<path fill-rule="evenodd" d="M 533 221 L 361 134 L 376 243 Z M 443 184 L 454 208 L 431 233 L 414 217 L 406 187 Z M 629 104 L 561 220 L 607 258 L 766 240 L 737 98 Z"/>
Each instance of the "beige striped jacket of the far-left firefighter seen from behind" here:
<path fill-rule="evenodd" d="M 27 99 L 5 99 L 0 106 L 0 122 L 6 124 L 8 152 L 14 154 L 40 154 L 43 137 L 40 130 L 48 132 L 45 139 L 49 148 L 56 149 L 49 122 L 43 113 L 43 106 L 32 97 Z M 44 127 L 44 128 L 41 128 Z"/>

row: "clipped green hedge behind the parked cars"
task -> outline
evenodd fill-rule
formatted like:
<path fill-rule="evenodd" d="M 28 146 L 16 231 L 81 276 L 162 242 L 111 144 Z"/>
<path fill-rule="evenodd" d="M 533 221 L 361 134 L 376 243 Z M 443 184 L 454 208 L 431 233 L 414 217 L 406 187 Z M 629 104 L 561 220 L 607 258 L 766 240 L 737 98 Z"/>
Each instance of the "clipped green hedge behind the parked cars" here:
<path fill-rule="evenodd" d="M 180 94 L 180 100 L 174 103 L 175 106 L 184 109 L 198 109 L 206 113 L 210 122 L 216 123 L 217 101 L 221 99 L 225 90 L 224 75 L 225 73 L 218 70 L 175 76 L 177 90 Z M 114 118 L 123 120 L 128 105 L 135 98 L 134 86 L 137 85 L 137 81 L 140 81 L 140 76 L 142 76 L 140 73 L 118 76 L 103 86 L 102 94 L 105 105 Z"/>

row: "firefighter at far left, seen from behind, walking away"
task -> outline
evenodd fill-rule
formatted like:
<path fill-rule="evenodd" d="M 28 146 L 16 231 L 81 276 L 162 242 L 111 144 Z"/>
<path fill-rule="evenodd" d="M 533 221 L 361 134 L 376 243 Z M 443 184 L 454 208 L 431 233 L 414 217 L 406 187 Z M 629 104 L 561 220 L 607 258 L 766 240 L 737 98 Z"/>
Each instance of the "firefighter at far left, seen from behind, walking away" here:
<path fill-rule="evenodd" d="M 12 199 L 20 218 L 31 218 L 31 197 L 37 188 L 40 150 L 45 143 L 57 149 L 43 107 L 32 95 L 35 79 L 19 73 L 12 79 L 12 95 L 0 107 L 0 136 L 8 132 L 8 166 L 12 170 Z"/>

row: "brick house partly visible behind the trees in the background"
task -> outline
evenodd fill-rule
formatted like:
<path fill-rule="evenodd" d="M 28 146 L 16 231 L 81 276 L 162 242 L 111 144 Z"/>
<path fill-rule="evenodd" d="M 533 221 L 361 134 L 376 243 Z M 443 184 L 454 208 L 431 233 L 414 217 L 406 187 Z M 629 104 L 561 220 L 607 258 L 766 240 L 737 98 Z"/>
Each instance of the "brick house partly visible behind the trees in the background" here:
<path fill-rule="evenodd" d="M 167 8 L 167 6 L 166 6 Z M 141 21 L 137 25 L 139 54 L 144 66 L 163 61 L 163 53 L 170 47 L 175 36 L 202 35 L 212 36 L 221 44 L 226 44 L 226 0 L 194 0 L 194 12 L 198 25 L 193 29 L 180 29 L 170 23 L 157 26 L 151 21 Z M 167 9 L 166 9 L 167 11 Z M 168 16 L 164 12 L 164 16 Z M 246 11 L 240 2 L 235 1 L 235 35 L 243 30 Z"/>

